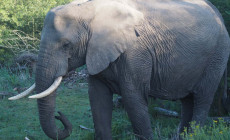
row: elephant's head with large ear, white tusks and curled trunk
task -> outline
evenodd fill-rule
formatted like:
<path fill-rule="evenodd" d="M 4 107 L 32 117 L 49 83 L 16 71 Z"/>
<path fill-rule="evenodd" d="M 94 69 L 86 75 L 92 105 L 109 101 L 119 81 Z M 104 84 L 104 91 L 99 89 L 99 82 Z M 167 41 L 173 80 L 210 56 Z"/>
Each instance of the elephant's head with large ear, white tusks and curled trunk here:
<path fill-rule="evenodd" d="M 52 139 L 64 139 L 72 131 L 62 113 L 56 118 L 62 121 L 65 129 L 58 130 L 55 124 L 55 92 L 61 77 L 84 64 L 91 75 L 103 71 L 126 50 L 130 38 L 136 37 L 134 25 L 142 14 L 133 9 L 131 13 L 121 10 L 123 5 L 109 6 L 110 14 L 105 12 L 107 7 L 97 4 L 79 6 L 72 3 L 49 11 L 41 34 L 36 86 L 10 98 L 21 98 L 35 88 L 40 94 L 30 98 L 38 98 L 42 129 Z"/>

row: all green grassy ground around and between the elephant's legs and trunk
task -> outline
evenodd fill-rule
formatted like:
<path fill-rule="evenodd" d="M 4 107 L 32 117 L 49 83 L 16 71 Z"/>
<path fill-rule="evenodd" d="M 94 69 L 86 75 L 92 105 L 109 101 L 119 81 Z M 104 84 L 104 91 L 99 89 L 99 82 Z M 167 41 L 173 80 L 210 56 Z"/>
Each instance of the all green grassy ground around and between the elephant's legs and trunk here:
<path fill-rule="evenodd" d="M 15 87 L 28 87 L 34 82 L 34 78 L 26 75 L 12 74 L 6 69 L 0 69 L 0 91 L 15 92 Z M 76 84 L 77 85 L 77 84 Z M 93 140 L 93 130 L 85 130 L 84 127 L 93 129 L 92 115 L 89 106 L 87 87 L 74 86 L 72 89 L 62 85 L 58 89 L 57 111 L 63 112 L 73 124 L 73 133 L 67 140 Z M 8 97 L 0 97 L 0 140 L 48 140 L 43 133 L 38 119 L 36 100 L 23 98 L 17 101 L 9 101 Z M 160 104 L 159 104 L 160 103 Z M 179 102 L 150 100 L 149 112 L 155 139 L 167 140 L 175 132 L 179 119 L 159 116 L 152 108 L 163 105 L 164 108 L 180 112 Z M 62 128 L 57 121 L 58 127 Z M 214 127 L 213 127 L 214 126 Z M 187 140 L 206 140 L 230 138 L 229 127 L 221 123 L 208 125 L 205 129 L 194 125 L 194 133 L 185 133 Z M 123 108 L 114 108 L 112 120 L 112 133 L 114 140 L 135 140 L 131 123 Z"/>

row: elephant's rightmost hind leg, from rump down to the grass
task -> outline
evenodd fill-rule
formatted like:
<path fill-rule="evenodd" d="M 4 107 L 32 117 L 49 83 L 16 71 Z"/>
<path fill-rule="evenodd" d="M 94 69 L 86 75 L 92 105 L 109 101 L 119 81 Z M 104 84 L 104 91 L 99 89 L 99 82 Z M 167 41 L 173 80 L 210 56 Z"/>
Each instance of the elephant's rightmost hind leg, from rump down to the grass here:
<path fill-rule="evenodd" d="M 193 121 L 203 125 L 213 101 L 214 94 L 223 76 L 229 57 L 229 37 L 227 32 L 220 36 L 218 46 L 210 55 L 206 69 L 194 87 L 194 110 Z"/>

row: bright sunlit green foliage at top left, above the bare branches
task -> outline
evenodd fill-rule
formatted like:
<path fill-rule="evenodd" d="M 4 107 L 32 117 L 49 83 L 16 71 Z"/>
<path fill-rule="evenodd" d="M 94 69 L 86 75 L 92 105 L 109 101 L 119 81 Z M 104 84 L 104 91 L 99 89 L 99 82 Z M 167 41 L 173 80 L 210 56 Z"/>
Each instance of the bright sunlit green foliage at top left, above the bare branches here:
<path fill-rule="evenodd" d="M 71 0 L 1 0 L 0 29 L 21 30 L 40 38 L 43 20 L 53 7 Z"/>

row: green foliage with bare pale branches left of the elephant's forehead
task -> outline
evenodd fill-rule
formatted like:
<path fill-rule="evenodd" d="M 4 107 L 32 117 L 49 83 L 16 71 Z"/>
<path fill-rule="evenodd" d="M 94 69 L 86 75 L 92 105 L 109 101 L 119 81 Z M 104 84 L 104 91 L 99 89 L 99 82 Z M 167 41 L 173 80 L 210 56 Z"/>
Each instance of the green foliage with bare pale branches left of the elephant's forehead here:
<path fill-rule="evenodd" d="M 0 64 L 3 65 L 22 51 L 37 51 L 46 13 L 70 1 L 1 0 Z"/>

